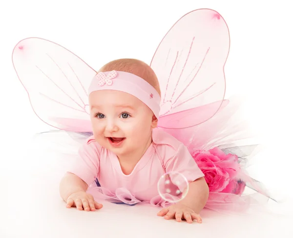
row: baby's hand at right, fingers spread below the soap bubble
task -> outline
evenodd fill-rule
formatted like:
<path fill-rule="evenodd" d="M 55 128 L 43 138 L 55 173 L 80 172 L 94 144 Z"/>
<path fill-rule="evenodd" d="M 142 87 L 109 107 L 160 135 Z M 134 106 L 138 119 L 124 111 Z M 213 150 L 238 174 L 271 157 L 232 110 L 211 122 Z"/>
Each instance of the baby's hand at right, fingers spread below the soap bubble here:
<path fill-rule="evenodd" d="M 202 219 L 199 214 L 196 214 L 188 206 L 179 203 L 162 209 L 157 215 L 165 216 L 165 219 L 167 220 L 175 218 L 178 222 L 181 222 L 182 218 L 184 218 L 188 223 L 192 223 L 193 220 L 197 220 L 198 223 L 202 223 Z"/>

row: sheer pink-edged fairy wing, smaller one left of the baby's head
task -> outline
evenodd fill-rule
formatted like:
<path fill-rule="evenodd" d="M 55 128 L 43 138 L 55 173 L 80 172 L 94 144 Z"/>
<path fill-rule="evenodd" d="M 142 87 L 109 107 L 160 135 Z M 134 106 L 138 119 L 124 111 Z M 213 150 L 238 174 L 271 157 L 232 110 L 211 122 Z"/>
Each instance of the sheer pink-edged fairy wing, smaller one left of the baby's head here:
<path fill-rule="evenodd" d="M 19 42 L 15 71 L 37 116 L 55 128 L 91 131 L 87 89 L 96 71 L 57 43 L 40 38 Z"/>

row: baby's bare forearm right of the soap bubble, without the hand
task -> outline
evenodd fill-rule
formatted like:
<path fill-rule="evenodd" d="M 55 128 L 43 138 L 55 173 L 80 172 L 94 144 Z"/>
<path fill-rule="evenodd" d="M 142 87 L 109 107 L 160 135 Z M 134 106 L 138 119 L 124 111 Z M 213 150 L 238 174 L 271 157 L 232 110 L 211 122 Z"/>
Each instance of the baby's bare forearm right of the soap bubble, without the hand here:
<path fill-rule="evenodd" d="M 195 213 L 199 214 L 205 207 L 209 197 L 209 186 L 204 177 L 189 183 L 188 194 L 180 201 L 190 207 Z"/>

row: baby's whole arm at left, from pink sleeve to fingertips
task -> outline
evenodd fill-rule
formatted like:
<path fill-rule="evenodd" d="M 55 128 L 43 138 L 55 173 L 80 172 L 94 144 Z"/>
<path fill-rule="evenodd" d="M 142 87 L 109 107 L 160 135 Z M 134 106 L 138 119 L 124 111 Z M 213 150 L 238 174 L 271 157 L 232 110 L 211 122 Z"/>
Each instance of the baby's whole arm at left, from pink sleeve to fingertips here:
<path fill-rule="evenodd" d="M 99 154 L 95 144 L 86 144 L 79 150 L 79 157 L 71 170 L 60 182 L 60 195 L 66 202 L 66 207 L 76 207 L 78 210 L 95 211 L 102 208 L 93 196 L 86 193 L 88 185 L 97 177 Z"/>

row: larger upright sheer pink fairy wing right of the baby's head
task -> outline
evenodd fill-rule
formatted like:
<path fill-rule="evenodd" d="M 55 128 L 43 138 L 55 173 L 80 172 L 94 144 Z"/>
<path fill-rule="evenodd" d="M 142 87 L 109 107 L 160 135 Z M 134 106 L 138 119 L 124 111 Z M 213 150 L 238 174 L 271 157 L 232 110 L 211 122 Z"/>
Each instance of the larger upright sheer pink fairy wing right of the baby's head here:
<path fill-rule="evenodd" d="M 160 120 L 177 113 L 176 123 L 165 128 L 199 125 L 219 110 L 225 96 L 229 47 L 226 22 L 209 9 L 186 14 L 167 32 L 150 64 L 161 87 Z"/>

